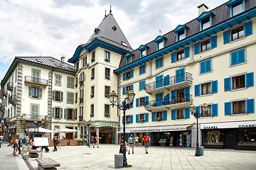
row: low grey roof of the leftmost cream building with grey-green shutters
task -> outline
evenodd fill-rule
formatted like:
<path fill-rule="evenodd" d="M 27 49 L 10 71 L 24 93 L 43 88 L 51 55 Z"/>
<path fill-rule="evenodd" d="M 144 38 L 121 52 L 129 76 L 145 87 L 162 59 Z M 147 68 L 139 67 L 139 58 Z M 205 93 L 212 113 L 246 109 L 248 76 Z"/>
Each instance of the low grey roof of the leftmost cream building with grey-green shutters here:
<path fill-rule="evenodd" d="M 18 60 L 23 60 L 26 62 L 33 62 L 36 64 L 42 64 L 48 67 L 54 67 L 56 69 L 63 69 L 68 72 L 75 72 L 73 65 L 65 62 L 61 62 L 53 57 L 15 57 Z"/>

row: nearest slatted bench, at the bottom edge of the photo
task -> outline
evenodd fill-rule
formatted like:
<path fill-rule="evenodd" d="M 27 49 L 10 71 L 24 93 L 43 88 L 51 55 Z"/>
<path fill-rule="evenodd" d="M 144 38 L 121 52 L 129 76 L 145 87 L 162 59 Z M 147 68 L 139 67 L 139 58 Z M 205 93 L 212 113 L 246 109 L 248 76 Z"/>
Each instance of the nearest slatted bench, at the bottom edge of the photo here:
<path fill-rule="evenodd" d="M 43 170 L 52 170 L 56 169 L 56 166 L 60 166 L 60 163 L 55 162 L 53 159 L 50 158 L 37 158 L 36 162 L 38 162 L 38 169 Z"/>

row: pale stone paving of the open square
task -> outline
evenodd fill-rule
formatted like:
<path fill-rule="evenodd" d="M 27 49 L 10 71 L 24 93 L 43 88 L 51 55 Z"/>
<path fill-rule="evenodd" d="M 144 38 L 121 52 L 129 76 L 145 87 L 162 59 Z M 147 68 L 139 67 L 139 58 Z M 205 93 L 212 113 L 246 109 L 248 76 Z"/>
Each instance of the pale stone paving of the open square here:
<path fill-rule="evenodd" d="M 43 152 L 43 157 L 59 162 L 57 169 L 114 169 L 114 154 L 119 152 L 119 145 L 99 147 L 68 146 L 58 152 L 49 147 L 50 152 Z M 195 157 L 194 148 L 149 147 L 149 154 L 145 154 L 144 147 L 140 146 L 135 147 L 134 152 L 127 154 L 127 163 L 132 168 L 125 169 L 256 169 L 256 151 L 204 149 L 202 157 Z M 11 153 L 11 147 L 0 148 L 1 170 L 28 169 L 21 157 L 13 157 Z M 29 158 L 28 162 L 38 169 L 35 158 Z"/>

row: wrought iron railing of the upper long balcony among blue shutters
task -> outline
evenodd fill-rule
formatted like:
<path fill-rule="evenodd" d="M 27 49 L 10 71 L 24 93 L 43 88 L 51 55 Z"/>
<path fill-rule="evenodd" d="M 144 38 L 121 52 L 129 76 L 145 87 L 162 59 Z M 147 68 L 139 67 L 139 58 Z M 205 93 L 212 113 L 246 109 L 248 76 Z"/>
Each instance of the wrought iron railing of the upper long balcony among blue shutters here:
<path fill-rule="evenodd" d="M 152 83 L 146 84 L 145 85 L 145 91 L 151 91 L 154 89 L 158 89 L 163 86 L 172 86 L 174 84 L 181 83 L 183 81 L 189 81 L 192 82 L 192 74 L 191 73 L 183 73 L 183 74 L 178 74 L 173 77 L 166 77 L 164 79 L 161 79 L 159 81 L 154 81 Z"/>

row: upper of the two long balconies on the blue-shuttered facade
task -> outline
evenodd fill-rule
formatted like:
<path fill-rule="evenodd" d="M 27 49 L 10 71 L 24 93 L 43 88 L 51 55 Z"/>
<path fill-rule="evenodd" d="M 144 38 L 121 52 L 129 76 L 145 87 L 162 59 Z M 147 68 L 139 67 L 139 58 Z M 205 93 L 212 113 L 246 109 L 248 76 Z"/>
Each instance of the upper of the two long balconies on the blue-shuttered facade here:
<path fill-rule="evenodd" d="M 148 94 L 152 94 L 156 91 L 163 91 L 165 89 L 170 90 L 178 86 L 191 86 L 192 80 L 192 74 L 186 72 L 173 77 L 161 79 L 160 81 L 154 81 L 152 83 L 146 84 L 145 91 Z"/>

